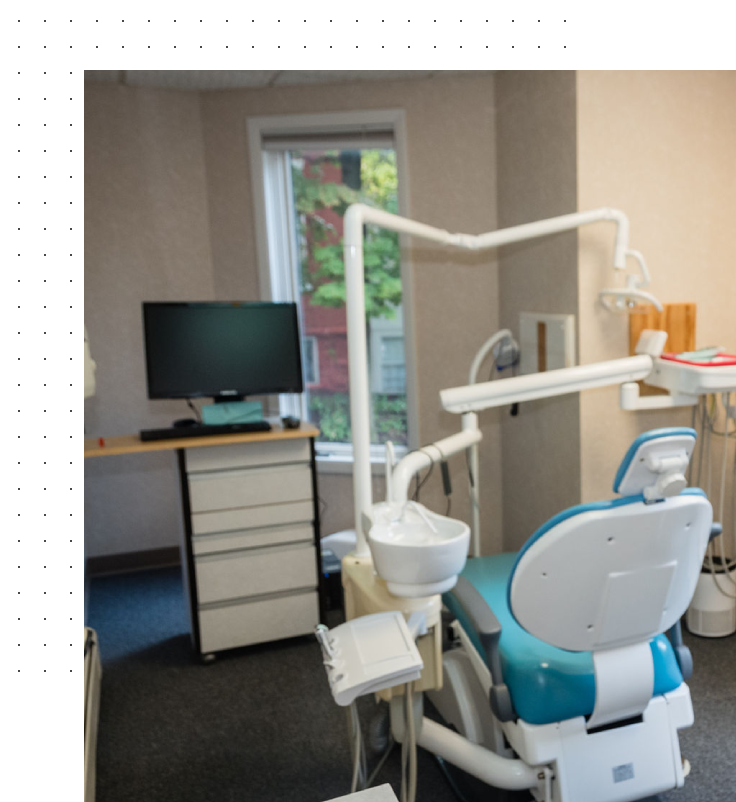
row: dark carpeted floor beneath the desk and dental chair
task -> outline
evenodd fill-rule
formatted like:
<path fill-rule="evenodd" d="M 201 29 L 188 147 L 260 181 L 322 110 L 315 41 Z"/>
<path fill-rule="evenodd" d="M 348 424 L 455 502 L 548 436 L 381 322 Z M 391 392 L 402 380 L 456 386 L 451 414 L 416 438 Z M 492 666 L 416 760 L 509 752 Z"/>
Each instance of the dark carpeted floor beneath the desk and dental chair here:
<path fill-rule="evenodd" d="M 89 625 L 103 665 L 98 802 L 322 802 L 348 793 L 345 711 L 332 701 L 312 638 L 193 657 L 178 569 L 97 578 Z M 693 770 L 662 802 L 736 799 L 736 637 L 687 637 L 695 726 L 681 734 Z M 361 706 L 369 718 L 372 703 Z M 367 721 L 365 722 L 368 723 Z M 396 748 L 378 782 L 399 794 Z M 485 795 L 485 802 L 494 796 Z M 419 802 L 452 802 L 419 750 Z"/>

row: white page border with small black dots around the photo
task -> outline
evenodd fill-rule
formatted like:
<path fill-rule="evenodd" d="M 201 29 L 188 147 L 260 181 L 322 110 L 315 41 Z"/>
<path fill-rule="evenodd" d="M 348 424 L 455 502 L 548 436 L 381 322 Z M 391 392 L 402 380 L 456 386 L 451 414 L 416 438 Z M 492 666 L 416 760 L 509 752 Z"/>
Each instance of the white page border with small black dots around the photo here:
<path fill-rule="evenodd" d="M 80 799 L 84 69 L 728 69 L 733 4 L 33 3 L 3 12 L 4 796 Z M 257 10 L 256 10 L 257 9 Z M 272 10 L 273 9 L 273 10 Z M 697 17 L 694 14 L 697 13 Z M 104 698 L 103 698 L 104 703 Z M 64 789 L 63 791 L 60 789 Z"/>

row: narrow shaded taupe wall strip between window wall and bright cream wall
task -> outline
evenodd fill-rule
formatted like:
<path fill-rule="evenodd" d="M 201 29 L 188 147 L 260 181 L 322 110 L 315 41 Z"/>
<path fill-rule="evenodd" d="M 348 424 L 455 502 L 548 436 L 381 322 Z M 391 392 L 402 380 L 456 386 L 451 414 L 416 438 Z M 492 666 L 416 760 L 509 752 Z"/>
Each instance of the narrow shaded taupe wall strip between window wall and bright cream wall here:
<path fill-rule="evenodd" d="M 577 209 L 575 73 L 496 76 L 499 227 Z M 577 314 L 577 234 L 501 249 L 501 326 L 518 337 L 520 312 Z M 503 527 L 518 548 L 544 521 L 580 498 L 578 396 L 503 410 Z M 484 479 L 485 482 L 485 479 Z"/>

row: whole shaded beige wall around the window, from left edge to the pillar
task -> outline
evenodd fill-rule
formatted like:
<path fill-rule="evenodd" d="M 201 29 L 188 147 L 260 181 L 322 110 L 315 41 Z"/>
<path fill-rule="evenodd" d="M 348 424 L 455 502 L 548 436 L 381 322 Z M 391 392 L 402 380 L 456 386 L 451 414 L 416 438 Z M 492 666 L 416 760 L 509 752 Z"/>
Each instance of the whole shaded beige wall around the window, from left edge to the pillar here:
<path fill-rule="evenodd" d="M 201 102 L 201 117 L 200 117 Z M 259 297 L 248 115 L 404 108 L 410 213 L 469 231 L 496 227 L 493 79 L 299 86 L 217 93 L 86 86 L 86 310 L 99 364 L 87 436 L 165 426 L 179 402 L 146 399 L 140 301 Z M 204 139 L 203 134 L 204 132 Z M 498 328 L 495 255 L 411 252 L 419 343 L 422 442 L 459 428 L 438 391 L 464 383 L 479 344 Z M 486 550 L 497 549 L 500 434 L 483 416 Z M 170 454 L 88 461 L 88 556 L 174 545 L 179 499 Z M 444 508 L 439 472 L 424 500 Z M 469 517 L 462 459 L 453 514 Z M 351 528 L 352 480 L 322 475 L 323 532 Z M 377 497 L 383 496 L 376 479 Z"/>

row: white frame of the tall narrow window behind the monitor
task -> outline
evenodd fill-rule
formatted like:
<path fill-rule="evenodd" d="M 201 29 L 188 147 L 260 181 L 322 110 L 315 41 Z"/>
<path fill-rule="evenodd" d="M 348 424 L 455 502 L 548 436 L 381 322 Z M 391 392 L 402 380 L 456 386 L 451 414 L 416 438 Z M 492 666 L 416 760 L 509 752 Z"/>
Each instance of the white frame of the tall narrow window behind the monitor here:
<path fill-rule="evenodd" d="M 250 158 L 253 211 L 255 218 L 256 252 L 258 255 L 258 275 L 262 300 L 299 299 L 296 271 L 298 245 L 296 226 L 289 222 L 289 236 L 281 236 L 273 223 L 273 206 L 279 209 L 290 207 L 285 199 L 291 196 L 291 175 L 283 166 L 275 165 L 271 154 L 264 150 L 263 140 L 273 136 L 299 136 L 326 133 L 354 136 L 356 131 L 371 130 L 393 132 L 396 166 L 399 177 L 399 214 L 409 217 L 409 184 L 407 175 L 406 120 L 403 109 L 376 109 L 371 111 L 331 112 L 324 114 L 274 115 L 249 117 L 246 120 L 246 133 Z M 281 160 L 283 163 L 283 160 Z M 273 199 L 277 203 L 273 203 Z M 271 214 L 269 214 L 269 211 Z M 402 314 L 404 324 L 404 354 L 406 370 L 406 408 L 408 447 L 397 447 L 397 456 L 416 448 L 418 427 L 418 401 L 416 378 L 416 349 L 414 335 L 414 304 L 412 270 L 406 247 L 406 237 L 399 237 L 401 248 Z M 301 310 L 300 310 L 301 316 Z M 300 319 L 300 333 L 303 332 Z M 297 415 L 306 419 L 304 396 L 279 397 L 281 414 Z M 326 472 L 347 473 L 352 471 L 351 443 L 317 443 L 317 460 L 320 469 Z M 377 472 L 385 463 L 385 449 L 371 445 L 371 463 Z"/>

